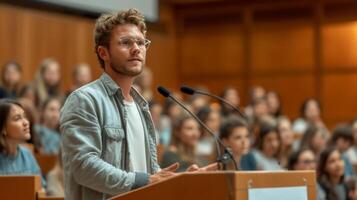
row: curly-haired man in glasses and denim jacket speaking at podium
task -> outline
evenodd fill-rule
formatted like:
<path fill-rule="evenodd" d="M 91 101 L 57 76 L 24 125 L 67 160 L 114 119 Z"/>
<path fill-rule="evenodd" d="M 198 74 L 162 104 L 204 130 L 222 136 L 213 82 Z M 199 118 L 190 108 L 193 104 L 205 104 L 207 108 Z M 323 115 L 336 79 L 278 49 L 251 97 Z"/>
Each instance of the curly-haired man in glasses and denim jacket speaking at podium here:
<path fill-rule="evenodd" d="M 178 167 L 160 170 L 148 104 L 132 87 L 150 45 L 142 14 L 100 16 L 94 39 L 104 72 L 74 91 L 61 112 L 65 198 L 71 200 L 106 199 L 171 177 Z"/>

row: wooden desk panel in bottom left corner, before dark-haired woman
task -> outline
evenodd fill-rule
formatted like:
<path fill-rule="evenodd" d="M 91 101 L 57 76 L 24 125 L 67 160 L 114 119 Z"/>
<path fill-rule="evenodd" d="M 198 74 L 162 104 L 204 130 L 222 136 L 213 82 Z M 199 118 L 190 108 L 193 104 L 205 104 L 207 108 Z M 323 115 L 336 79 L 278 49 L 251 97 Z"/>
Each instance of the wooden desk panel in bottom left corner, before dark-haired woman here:
<path fill-rule="evenodd" d="M 39 176 L 0 176 L 0 199 L 36 200 L 41 186 Z"/>

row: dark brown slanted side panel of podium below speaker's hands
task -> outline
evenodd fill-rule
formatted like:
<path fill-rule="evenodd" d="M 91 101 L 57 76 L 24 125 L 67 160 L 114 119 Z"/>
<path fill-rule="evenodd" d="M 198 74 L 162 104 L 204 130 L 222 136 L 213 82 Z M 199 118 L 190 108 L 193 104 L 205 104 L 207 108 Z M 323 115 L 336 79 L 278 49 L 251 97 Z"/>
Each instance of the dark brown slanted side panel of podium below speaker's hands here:
<path fill-rule="evenodd" d="M 182 173 L 111 199 L 232 199 L 234 173 Z M 231 190 L 230 190 L 231 189 Z M 231 195 L 231 196 L 230 196 Z"/>

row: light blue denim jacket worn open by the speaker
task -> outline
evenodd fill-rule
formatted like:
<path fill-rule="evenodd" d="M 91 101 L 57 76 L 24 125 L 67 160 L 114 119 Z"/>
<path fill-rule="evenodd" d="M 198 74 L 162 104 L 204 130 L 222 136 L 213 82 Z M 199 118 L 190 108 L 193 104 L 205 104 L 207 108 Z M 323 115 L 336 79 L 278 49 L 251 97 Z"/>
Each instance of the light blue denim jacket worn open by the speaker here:
<path fill-rule="evenodd" d="M 141 110 L 147 173 L 133 172 L 126 140 L 127 111 L 118 85 L 106 73 L 74 91 L 61 111 L 65 199 L 99 200 L 148 183 L 159 170 L 156 136 L 148 103 L 131 96 Z"/>

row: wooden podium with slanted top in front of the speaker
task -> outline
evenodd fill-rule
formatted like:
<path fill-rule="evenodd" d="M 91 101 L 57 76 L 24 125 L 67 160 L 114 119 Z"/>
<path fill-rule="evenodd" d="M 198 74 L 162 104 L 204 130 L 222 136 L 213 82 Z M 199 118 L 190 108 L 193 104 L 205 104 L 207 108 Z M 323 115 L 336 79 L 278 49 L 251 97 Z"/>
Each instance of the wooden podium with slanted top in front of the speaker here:
<path fill-rule="evenodd" d="M 315 200 L 315 171 L 186 172 L 165 181 L 115 196 L 111 200 L 248 200 L 249 188 L 293 186 L 306 186 L 308 199 Z"/>

